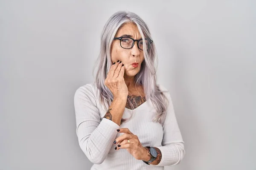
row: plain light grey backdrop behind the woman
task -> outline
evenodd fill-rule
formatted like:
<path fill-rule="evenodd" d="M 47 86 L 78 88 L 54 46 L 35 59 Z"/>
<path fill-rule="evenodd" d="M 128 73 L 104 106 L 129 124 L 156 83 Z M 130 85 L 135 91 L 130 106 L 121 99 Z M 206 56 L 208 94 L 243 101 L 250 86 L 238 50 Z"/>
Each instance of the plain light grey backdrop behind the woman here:
<path fill-rule="evenodd" d="M 173 99 L 186 156 L 165 169 L 256 170 L 255 0 L 0 0 L 0 170 L 90 170 L 73 96 L 118 10 L 148 24 Z"/>

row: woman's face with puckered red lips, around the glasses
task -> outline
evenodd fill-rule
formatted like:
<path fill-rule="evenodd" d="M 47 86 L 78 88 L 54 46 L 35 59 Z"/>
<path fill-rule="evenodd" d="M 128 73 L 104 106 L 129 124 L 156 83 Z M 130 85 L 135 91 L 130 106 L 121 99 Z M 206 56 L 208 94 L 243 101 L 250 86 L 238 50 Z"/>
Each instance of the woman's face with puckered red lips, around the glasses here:
<path fill-rule="evenodd" d="M 134 40 L 140 40 L 142 38 L 134 23 L 125 23 L 122 25 L 122 27 L 117 31 L 115 37 L 127 37 L 128 35 Z M 144 55 L 143 51 L 138 48 L 137 41 L 134 42 L 134 46 L 132 48 L 125 49 L 121 47 L 120 40 L 113 40 L 111 45 L 111 60 L 112 63 L 117 60 L 122 61 L 125 65 L 125 76 L 134 77 L 140 71 Z M 138 62 L 137 67 L 132 65 L 134 62 Z"/>

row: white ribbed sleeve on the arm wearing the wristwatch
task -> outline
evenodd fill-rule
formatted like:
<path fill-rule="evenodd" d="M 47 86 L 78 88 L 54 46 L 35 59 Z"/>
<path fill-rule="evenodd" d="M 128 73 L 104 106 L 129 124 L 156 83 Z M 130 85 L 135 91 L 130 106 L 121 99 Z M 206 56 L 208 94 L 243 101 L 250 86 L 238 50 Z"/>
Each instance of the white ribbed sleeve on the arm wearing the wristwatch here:
<path fill-rule="evenodd" d="M 185 156 L 184 142 L 178 127 L 170 93 L 163 86 L 160 87 L 166 91 L 164 94 L 166 94 L 169 100 L 169 105 L 166 119 L 163 123 L 162 146 L 157 147 L 162 153 L 162 159 L 159 164 L 155 166 L 172 166 L 180 163 Z"/>

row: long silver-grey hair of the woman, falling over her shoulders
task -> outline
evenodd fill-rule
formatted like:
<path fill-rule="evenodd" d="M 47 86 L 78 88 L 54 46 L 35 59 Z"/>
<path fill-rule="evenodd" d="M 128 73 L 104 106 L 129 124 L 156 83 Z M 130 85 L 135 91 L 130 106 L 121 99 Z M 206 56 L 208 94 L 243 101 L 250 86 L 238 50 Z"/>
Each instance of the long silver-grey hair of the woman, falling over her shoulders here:
<path fill-rule="evenodd" d="M 98 71 L 96 74 L 96 85 L 99 89 L 100 101 L 105 106 L 106 111 L 108 110 L 109 106 L 111 105 L 111 102 L 113 101 L 113 94 L 104 83 L 108 71 L 110 70 L 112 65 L 111 45 L 113 42 L 113 38 L 116 35 L 116 32 L 124 23 L 128 22 L 132 22 L 137 25 L 137 28 L 143 39 L 143 48 L 147 49 L 143 50 L 144 60 L 141 64 L 140 72 L 136 74 L 134 77 L 135 86 L 137 87 L 137 85 L 143 85 L 145 99 L 151 99 L 151 102 L 156 109 L 156 115 L 152 121 L 159 122 L 162 124 L 166 116 L 166 110 L 169 101 L 167 97 L 163 95 L 163 92 L 160 91 L 160 88 L 156 82 L 157 68 L 155 68 L 154 66 L 155 59 L 158 63 L 156 48 L 154 42 L 151 43 L 150 46 L 145 47 L 145 38 L 150 38 L 152 40 L 150 31 L 146 23 L 137 14 L 134 14 L 133 12 L 116 12 L 108 19 L 107 23 L 103 28 L 101 36 L 100 53 L 96 62 L 96 64 L 99 63 Z M 130 102 L 131 104 L 131 101 L 128 100 L 128 102 Z M 122 119 L 121 124 L 122 122 L 126 121 L 128 121 L 128 119 Z"/>

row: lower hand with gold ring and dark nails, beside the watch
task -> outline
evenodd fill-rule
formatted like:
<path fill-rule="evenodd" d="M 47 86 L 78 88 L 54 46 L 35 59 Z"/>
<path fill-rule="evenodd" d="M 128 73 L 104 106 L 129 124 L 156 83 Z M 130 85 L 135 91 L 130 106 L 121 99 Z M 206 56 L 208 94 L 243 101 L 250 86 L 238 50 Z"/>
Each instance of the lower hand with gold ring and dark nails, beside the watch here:
<path fill-rule="evenodd" d="M 131 133 L 128 128 L 120 128 L 119 133 L 124 133 L 116 138 L 116 150 L 126 149 L 135 159 L 144 160 L 147 158 L 148 150 L 142 146 L 138 136 Z M 130 143 L 128 143 L 128 140 Z M 120 147 L 118 147 L 121 145 Z"/>

